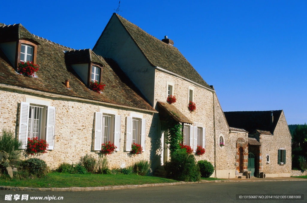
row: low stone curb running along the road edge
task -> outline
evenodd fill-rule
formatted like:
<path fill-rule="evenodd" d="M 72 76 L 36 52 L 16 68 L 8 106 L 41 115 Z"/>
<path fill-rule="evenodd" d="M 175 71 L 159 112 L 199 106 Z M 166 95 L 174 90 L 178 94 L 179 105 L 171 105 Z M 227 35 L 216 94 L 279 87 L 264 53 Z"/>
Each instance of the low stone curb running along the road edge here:
<path fill-rule="evenodd" d="M 159 187 L 159 186 L 170 186 L 170 185 L 185 185 L 195 183 L 220 183 L 220 182 L 264 182 L 264 181 L 307 181 L 306 180 L 218 180 L 218 181 L 197 181 L 197 182 L 175 182 L 175 183 L 155 183 L 155 184 L 144 184 L 144 185 L 116 185 L 116 186 L 105 186 L 105 187 L 69 187 L 69 188 L 29 188 L 29 187 L 11 187 L 11 186 L 0 186 L 0 190 L 17 190 L 17 191 L 102 191 L 102 190 L 115 190 L 115 189 L 131 189 L 131 188 L 145 188 L 145 187 Z"/>

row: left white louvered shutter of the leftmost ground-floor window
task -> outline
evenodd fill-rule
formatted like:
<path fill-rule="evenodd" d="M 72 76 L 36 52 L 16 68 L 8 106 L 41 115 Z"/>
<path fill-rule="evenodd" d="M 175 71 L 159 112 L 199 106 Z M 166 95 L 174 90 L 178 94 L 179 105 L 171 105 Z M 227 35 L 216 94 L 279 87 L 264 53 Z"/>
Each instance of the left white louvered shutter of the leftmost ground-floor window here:
<path fill-rule="evenodd" d="M 19 119 L 19 136 L 18 136 L 18 140 L 22 142 L 21 149 L 27 148 L 29 112 L 30 112 L 30 103 L 21 101 L 20 119 Z"/>

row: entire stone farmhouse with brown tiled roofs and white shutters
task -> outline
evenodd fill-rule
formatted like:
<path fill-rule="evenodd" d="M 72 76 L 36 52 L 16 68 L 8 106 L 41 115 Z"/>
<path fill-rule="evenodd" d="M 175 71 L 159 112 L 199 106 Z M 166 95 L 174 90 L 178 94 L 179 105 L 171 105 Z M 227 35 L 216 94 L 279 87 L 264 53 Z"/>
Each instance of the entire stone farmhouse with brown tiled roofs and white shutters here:
<path fill-rule="evenodd" d="M 28 137 L 45 139 L 49 150 L 39 158 L 51 168 L 86 153 L 101 156 L 101 144 L 110 141 L 117 146 L 107 155 L 111 167 L 146 159 L 154 171 L 169 159 L 162 123 L 170 115 L 182 125 L 182 144 L 193 153 L 205 148 L 196 159 L 214 165 L 212 177 L 291 175 L 291 135 L 282 110 L 223 112 L 213 86 L 171 39 L 159 40 L 118 14 L 93 50 L 2 23 L 0 48 L 0 128 L 14 129 L 23 148 Z M 16 72 L 21 61 L 40 66 L 35 77 Z M 106 85 L 101 94 L 88 89 L 93 80 Z M 177 101 L 168 104 L 169 95 Z M 193 113 L 189 101 L 196 103 Z M 133 142 L 142 154 L 131 155 Z"/>

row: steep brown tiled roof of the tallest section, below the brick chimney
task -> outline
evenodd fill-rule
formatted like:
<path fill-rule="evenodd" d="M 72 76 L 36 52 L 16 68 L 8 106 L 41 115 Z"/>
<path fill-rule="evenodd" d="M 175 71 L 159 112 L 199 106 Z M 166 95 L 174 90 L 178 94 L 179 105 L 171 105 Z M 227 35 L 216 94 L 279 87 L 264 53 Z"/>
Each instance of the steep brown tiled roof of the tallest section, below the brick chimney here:
<path fill-rule="evenodd" d="M 116 13 L 114 13 L 113 16 L 119 19 L 152 66 L 158 66 L 214 90 L 213 87 L 210 87 L 204 81 L 200 74 L 198 74 L 176 47 L 168 45 L 153 37 Z M 94 50 L 96 45 L 93 48 Z"/>

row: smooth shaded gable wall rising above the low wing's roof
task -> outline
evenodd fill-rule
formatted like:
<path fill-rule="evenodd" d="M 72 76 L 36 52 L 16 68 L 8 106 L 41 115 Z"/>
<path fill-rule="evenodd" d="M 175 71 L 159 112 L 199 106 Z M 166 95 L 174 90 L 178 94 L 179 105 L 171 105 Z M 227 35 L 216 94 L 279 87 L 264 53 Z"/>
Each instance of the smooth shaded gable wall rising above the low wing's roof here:
<path fill-rule="evenodd" d="M 93 51 L 98 55 L 114 59 L 153 105 L 155 69 L 115 15 L 112 16 Z"/>

